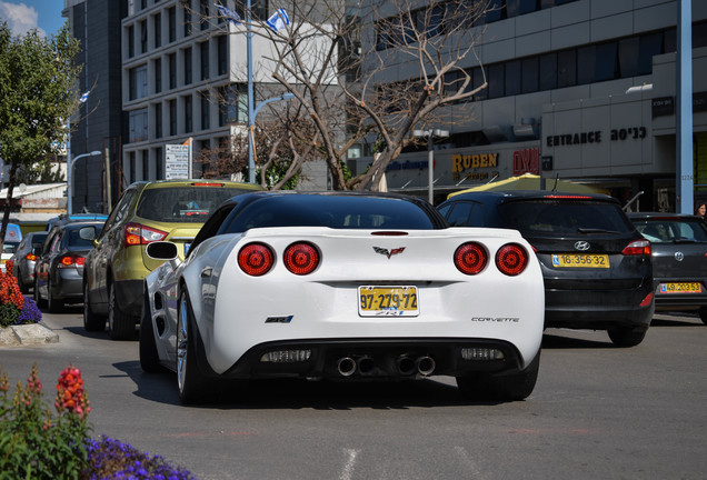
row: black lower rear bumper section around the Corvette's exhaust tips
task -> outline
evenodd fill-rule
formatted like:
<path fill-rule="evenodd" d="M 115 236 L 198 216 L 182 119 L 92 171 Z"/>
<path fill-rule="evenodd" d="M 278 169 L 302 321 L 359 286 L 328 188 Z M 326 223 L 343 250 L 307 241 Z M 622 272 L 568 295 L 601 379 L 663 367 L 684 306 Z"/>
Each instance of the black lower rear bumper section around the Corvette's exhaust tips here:
<path fill-rule="evenodd" d="M 498 349 L 502 359 L 467 360 L 462 349 Z M 201 352 L 203 349 L 199 349 Z M 308 350 L 305 361 L 263 362 L 271 351 Z M 208 366 L 206 358 L 200 366 Z M 474 372 L 517 372 L 522 369 L 510 343 L 487 339 L 312 339 L 255 346 L 221 378 L 326 378 L 329 380 L 414 379 L 429 374 L 459 377 Z M 215 376 L 207 368 L 206 374 Z"/>

